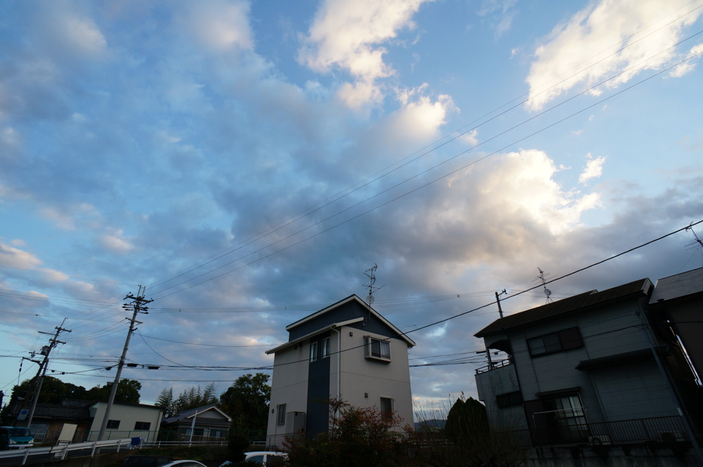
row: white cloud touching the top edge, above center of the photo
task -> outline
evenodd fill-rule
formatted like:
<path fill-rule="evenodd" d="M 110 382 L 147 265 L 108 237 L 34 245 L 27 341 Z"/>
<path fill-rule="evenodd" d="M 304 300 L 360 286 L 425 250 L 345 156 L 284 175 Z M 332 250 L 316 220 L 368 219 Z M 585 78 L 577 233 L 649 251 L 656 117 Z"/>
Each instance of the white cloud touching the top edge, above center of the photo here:
<path fill-rule="evenodd" d="M 376 80 L 394 74 L 383 61 L 383 44 L 399 30 L 412 28 L 412 15 L 425 0 L 327 0 L 318 11 L 299 51 L 298 60 L 316 72 L 335 68 L 349 72 L 353 84 L 344 84 L 340 98 L 352 108 L 378 102 Z"/>

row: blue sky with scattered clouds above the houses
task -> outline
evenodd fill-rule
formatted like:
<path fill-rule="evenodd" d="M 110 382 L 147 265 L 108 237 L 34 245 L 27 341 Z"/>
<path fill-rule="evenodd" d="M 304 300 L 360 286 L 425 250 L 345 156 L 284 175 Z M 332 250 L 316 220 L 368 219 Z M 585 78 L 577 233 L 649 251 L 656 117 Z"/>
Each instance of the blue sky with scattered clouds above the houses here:
<path fill-rule="evenodd" d="M 505 314 L 703 266 L 703 1 L 0 3 L 0 390 L 141 402 L 349 295 L 477 397 Z M 537 286 L 528 293 L 523 290 Z M 475 310 L 475 311 L 471 311 Z M 451 318 L 461 314 L 456 318 Z M 64 321 L 65 319 L 65 321 Z M 441 322 L 440 322 L 441 321 Z M 46 334 L 49 333 L 49 334 Z M 159 366 L 157 370 L 146 366 Z"/>

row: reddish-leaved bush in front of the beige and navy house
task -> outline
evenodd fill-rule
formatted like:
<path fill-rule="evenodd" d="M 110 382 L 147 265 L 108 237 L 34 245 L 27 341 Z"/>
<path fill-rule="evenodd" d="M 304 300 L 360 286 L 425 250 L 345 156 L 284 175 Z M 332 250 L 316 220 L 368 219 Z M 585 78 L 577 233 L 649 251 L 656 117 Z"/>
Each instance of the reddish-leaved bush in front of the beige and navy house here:
<path fill-rule="evenodd" d="M 334 416 L 337 414 L 337 416 Z M 288 438 L 291 467 L 393 467 L 420 466 L 415 434 L 401 427 L 399 416 L 388 416 L 373 407 L 353 407 L 330 400 L 330 430 L 314 438 Z"/>

